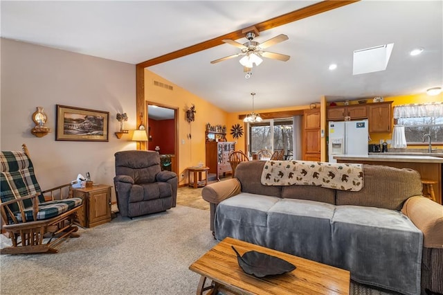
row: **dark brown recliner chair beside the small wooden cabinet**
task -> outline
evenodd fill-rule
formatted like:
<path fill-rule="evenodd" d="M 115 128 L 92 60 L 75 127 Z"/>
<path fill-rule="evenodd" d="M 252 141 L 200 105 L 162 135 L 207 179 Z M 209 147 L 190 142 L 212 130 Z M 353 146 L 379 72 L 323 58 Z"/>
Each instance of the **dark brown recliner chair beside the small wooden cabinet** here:
<path fill-rule="evenodd" d="M 114 186 L 118 210 L 123 217 L 166 211 L 177 204 L 177 175 L 161 171 L 158 152 L 116 152 Z"/>

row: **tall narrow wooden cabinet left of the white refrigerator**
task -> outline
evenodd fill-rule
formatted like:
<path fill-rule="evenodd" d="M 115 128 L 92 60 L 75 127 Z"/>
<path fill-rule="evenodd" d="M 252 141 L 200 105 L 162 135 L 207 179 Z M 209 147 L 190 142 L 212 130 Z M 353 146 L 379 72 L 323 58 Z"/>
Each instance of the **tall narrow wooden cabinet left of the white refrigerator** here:
<path fill-rule="evenodd" d="M 320 161 L 320 109 L 305 109 L 303 117 L 303 160 Z"/>

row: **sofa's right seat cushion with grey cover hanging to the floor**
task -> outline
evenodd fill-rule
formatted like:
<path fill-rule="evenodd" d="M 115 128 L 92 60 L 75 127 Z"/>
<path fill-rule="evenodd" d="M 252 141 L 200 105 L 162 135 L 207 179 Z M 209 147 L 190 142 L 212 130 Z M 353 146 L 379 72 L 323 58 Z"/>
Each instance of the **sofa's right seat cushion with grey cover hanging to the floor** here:
<path fill-rule="evenodd" d="M 359 283 L 420 294 L 422 232 L 384 208 L 336 206 L 329 255 Z"/>

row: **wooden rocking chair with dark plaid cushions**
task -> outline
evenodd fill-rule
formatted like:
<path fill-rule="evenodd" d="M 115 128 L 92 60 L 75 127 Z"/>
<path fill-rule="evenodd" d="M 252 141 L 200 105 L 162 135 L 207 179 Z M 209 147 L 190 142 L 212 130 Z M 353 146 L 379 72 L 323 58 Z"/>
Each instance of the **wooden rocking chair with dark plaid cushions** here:
<path fill-rule="evenodd" d="M 73 223 L 82 199 L 72 197 L 71 184 L 42 191 L 26 145 L 23 150 L 0 154 L 1 229 L 12 241 L 0 254 L 57 253 L 60 242 L 79 236 Z"/>

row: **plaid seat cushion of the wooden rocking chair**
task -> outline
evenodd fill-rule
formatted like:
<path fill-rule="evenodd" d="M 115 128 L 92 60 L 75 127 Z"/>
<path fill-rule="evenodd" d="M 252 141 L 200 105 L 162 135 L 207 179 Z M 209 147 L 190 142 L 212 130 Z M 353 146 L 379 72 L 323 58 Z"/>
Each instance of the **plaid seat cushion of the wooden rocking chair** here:
<path fill-rule="evenodd" d="M 39 204 L 39 212 L 37 213 L 37 220 L 47 220 L 48 218 L 52 218 L 58 216 L 62 213 L 65 213 L 77 206 L 82 204 L 82 198 L 73 197 L 70 199 L 57 199 L 54 201 L 45 202 Z M 33 221 L 33 207 L 25 209 L 26 221 Z M 17 220 L 21 222 L 20 213 L 16 213 L 15 215 Z"/>

